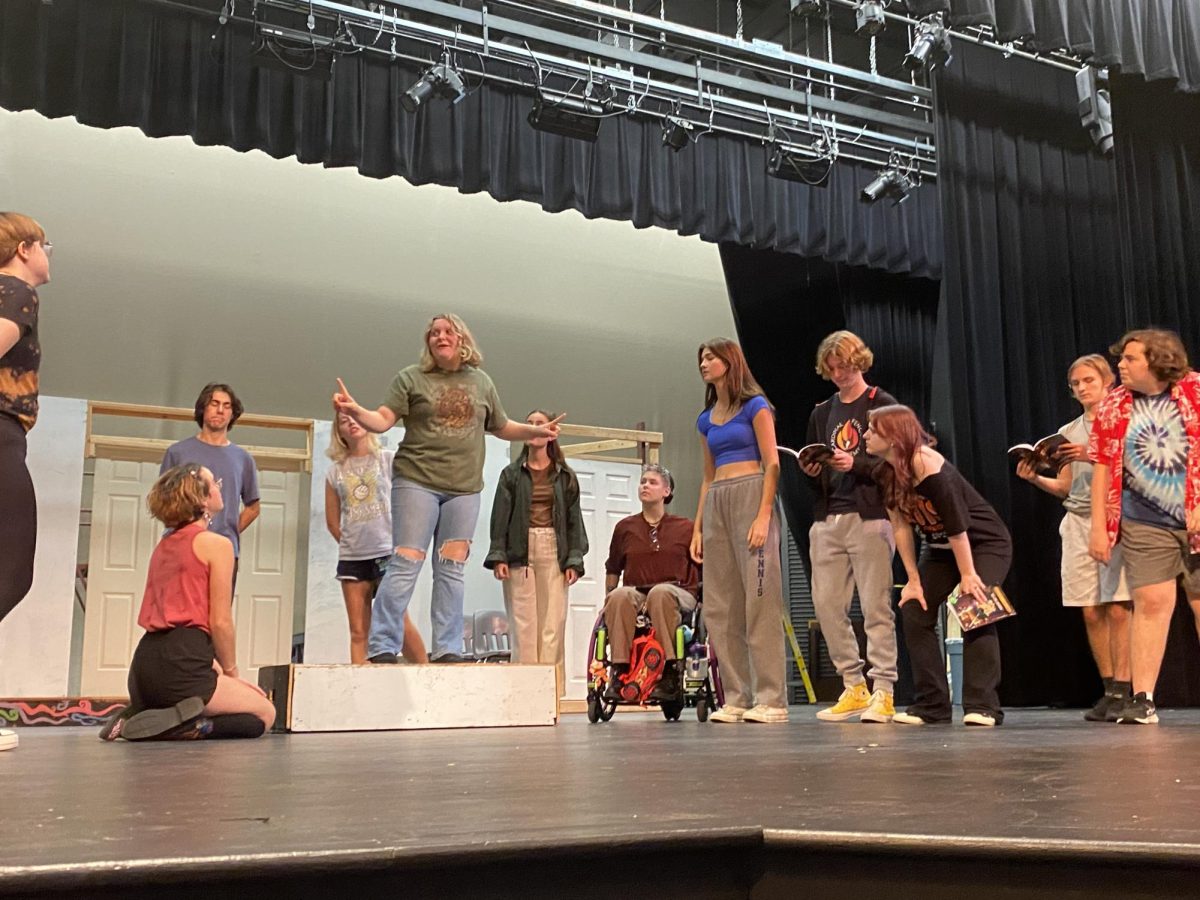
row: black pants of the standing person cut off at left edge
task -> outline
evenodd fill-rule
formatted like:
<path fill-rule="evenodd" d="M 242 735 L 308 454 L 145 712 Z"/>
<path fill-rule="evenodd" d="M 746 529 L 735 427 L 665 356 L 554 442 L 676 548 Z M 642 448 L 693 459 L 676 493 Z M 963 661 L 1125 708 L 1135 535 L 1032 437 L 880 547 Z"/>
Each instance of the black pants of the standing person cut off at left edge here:
<path fill-rule="evenodd" d="M 37 499 L 25 467 L 25 428 L 0 413 L 0 620 L 34 584 Z"/>

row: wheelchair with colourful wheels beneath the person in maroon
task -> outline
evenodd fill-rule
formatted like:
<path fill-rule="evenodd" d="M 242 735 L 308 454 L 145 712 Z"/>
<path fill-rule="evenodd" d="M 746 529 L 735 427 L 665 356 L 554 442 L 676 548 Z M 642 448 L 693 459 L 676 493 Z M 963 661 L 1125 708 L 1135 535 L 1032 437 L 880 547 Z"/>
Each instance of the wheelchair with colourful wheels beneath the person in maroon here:
<path fill-rule="evenodd" d="M 659 702 L 656 700 L 613 700 L 604 696 L 605 688 L 612 677 L 612 664 L 608 654 L 608 629 L 605 625 L 604 611 L 596 617 L 588 643 L 588 721 L 606 722 L 612 719 L 618 706 L 658 706 L 662 718 L 678 721 L 686 707 L 696 710 L 698 721 L 708 721 L 708 714 L 725 702 L 721 689 L 721 676 L 716 664 L 716 650 L 708 640 L 703 614 L 697 602 L 696 608 L 682 612 L 679 626 L 674 632 L 676 660 L 679 666 L 679 682 L 683 697 L 676 701 Z M 644 611 L 637 613 L 635 640 L 648 634 L 650 620 Z M 652 649 L 649 653 L 656 653 Z M 659 676 L 661 678 L 661 674 Z"/>

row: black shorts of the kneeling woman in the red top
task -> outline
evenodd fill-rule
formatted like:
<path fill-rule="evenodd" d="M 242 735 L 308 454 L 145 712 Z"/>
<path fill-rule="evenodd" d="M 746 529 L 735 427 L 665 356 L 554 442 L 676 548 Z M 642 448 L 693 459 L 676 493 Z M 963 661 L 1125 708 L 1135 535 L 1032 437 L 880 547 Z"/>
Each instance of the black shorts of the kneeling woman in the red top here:
<path fill-rule="evenodd" d="M 212 638 L 198 628 L 148 631 L 130 664 L 130 706 L 166 709 L 181 700 L 205 703 L 217 689 Z"/>

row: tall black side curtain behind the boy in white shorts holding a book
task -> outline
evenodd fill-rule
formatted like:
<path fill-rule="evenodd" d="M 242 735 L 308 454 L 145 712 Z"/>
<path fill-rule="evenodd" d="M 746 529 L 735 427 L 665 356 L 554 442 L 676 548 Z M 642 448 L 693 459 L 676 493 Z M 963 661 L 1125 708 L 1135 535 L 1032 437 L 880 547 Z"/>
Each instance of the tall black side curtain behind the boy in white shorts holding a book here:
<path fill-rule="evenodd" d="M 1067 367 L 1126 328 L 1116 172 L 1079 124 L 1069 72 L 959 42 L 936 88 L 947 238 L 935 414 L 943 451 L 1009 523 L 1006 704 L 1099 691 L 1080 614 L 1061 606 L 1057 500 L 1006 449 L 1079 414 Z"/>

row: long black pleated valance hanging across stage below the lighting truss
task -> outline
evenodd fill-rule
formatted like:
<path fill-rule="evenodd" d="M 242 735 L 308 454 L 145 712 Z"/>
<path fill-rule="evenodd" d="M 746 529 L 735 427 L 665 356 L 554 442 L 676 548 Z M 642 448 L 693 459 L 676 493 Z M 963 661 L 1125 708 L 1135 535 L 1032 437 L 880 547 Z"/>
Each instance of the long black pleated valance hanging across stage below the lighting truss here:
<path fill-rule="evenodd" d="M 251 59 L 248 28 L 217 28 L 221 0 L 190 2 L 208 12 L 146 0 L 4 0 L 0 106 L 486 191 L 709 241 L 893 272 L 941 271 L 934 192 L 896 210 L 864 206 L 858 191 L 875 174 L 869 167 L 839 162 L 828 187 L 810 188 L 769 178 L 757 140 L 708 134 L 671 152 L 658 118 L 612 118 L 595 144 L 570 140 L 526 122 L 532 89 L 496 83 L 409 116 L 398 101 L 418 68 L 365 53 L 338 58 L 329 82 L 264 68 Z"/>

